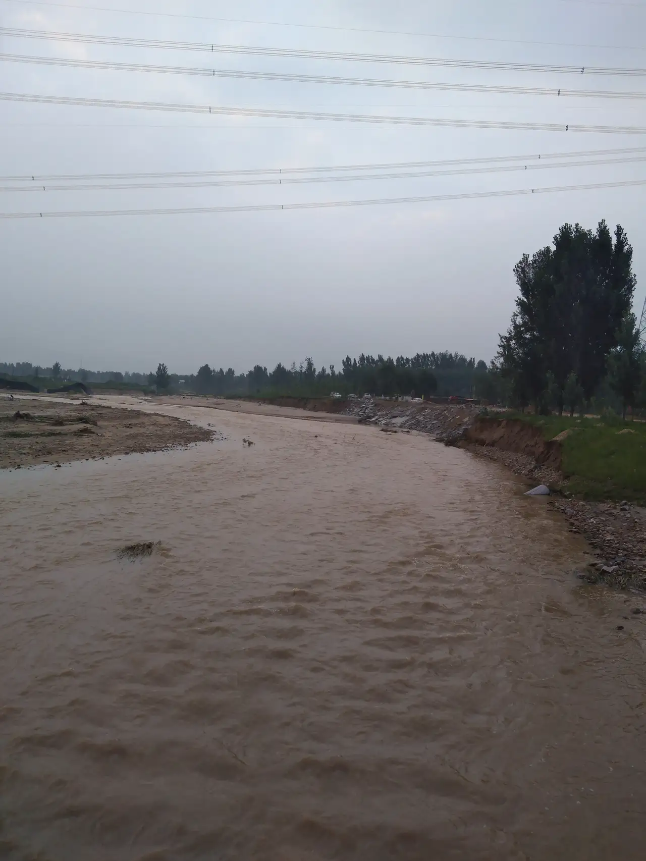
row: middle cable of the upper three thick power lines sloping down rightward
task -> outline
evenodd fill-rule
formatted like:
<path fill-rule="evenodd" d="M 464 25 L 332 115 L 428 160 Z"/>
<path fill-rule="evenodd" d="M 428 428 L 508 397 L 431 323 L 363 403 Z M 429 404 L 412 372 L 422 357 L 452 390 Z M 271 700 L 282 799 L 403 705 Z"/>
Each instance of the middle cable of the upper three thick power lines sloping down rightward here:
<path fill-rule="evenodd" d="M 34 57 L 25 54 L 0 53 L 0 60 L 11 63 L 55 65 L 72 69 L 99 69 L 110 71 L 142 71 L 168 75 L 194 75 L 198 77 L 233 77 L 244 80 L 280 81 L 299 84 L 343 84 L 356 87 L 382 87 L 399 90 L 450 90 L 469 93 L 502 93 L 510 96 L 563 96 L 564 98 L 646 99 L 646 92 L 618 90 L 565 90 L 556 87 L 518 87 L 494 84 L 438 84 L 430 81 L 402 81 L 386 78 L 344 77 L 338 75 L 303 75 L 295 72 L 245 71 L 240 69 L 214 69 L 177 65 L 149 65 L 144 63 L 114 63 L 104 60 L 67 59 L 63 57 Z M 644 71 L 646 74 L 646 70 Z"/>

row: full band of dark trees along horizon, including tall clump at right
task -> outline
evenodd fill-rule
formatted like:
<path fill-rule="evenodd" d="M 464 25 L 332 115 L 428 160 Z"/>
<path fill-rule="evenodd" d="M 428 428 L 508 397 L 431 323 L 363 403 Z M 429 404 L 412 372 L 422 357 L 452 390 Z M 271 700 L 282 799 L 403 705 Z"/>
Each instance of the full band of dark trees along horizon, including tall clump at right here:
<path fill-rule="evenodd" d="M 121 374 L 63 370 L 59 362 L 39 369 L 28 362 L 0 363 L 0 373 L 54 380 L 140 385 L 158 391 L 215 396 L 297 396 L 339 392 L 419 396 L 461 394 L 488 403 L 536 412 L 646 408 L 646 351 L 632 311 L 636 277 L 624 229 L 614 234 L 605 221 L 596 230 L 565 224 L 552 245 L 524 254 L 513 269 L 519 295 L 494 359 L 476 362 L 461 353 L 417 353 L 384 357 L 345 356 L 316 369 L 307 356 L 288 368 L 255 365 L 246 374 L 204 364 L 195 375 L 156 372 Z"/>

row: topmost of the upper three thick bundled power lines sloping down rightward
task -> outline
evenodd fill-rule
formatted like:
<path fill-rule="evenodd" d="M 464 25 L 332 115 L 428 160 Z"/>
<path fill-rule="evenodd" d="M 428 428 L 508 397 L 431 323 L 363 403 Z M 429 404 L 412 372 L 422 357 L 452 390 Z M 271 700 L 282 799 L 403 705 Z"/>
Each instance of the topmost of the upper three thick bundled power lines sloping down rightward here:
<path fill-rule="evenodd" d="M 276 48 L 257 45 L 227 45 L 216 42 L 186 42 L 159 39 L 136 39 L 130 36 L 104 36 L 82 33 L 59 33 L 49 30 L 0 28 L 0 34 L 23 39 L 80 42 L 84 45 L 140 47 L 153 50 L 196 51 L 202 53 L 230 53 L 260 57 L 290 59 L 342 60 L 352 63 L 383 63 L 390 65 L 441 66 L 457 69 L 487 69 L 490 71 L 558 72 L 574 75 L 612 75 L 644 77 L 646 69 L 615 68 L 610 66 L 562 65 L 545 63 L 511 63 L 502 60 L 470 60 L 438 57 L 407 57 L 401 55 L 356 53 L 347 51 L 314 51 L 306 48 Z"/>

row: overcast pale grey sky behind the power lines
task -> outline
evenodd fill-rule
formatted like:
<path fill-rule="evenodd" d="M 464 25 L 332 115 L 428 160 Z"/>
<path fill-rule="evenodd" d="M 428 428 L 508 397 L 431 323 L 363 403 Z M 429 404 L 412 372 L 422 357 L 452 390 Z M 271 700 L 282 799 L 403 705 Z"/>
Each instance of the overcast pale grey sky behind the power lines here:
<path fill-rule="evenodd" d="M 100 7 L 100 9 L 99 9 Z M 138 13 L 128 13 L 137 9 Z M 165 14 L 160 14 L 165 13 Z M 202 17 L 200 17 L 202 16 Z M 239 21 L 218 20 L 235 17 Z M 270 23 L 271 22 L 271 23 Z M 297 26 L 298 25 L 298 26 Z M 577 0 L 0 0 L 0 26 L 410 57 L 646 67 L 646 3 Z M 380 31 L 380 32 L 376 32 Z M 40 57 L 463 84 L 646 91 L 644 77 L 424 68 L 88 45 L 0 35 Z M 646 102 L 394 90 L 0 62 L 0 90 L 245 108 L 646 126 Z M 4 177 L 247 170 L 646 146 L 646 135 L 382 126 L 0 101 Z M 645 153 L 646 154 L 646 153 Z M 646 163 L 525 173 L 211 189 L 0 193 L 0 211 L 190 208 L 467 194 L 646 178 Z M 3 185 L 11 184 L 3 182 Z M 565 221 L 621 223 L 637 313 L 646 189 L 360 208 L 1 220 L 0 361 L 245 371 L 360 352 L 489 359 L 523 252 Z"/>

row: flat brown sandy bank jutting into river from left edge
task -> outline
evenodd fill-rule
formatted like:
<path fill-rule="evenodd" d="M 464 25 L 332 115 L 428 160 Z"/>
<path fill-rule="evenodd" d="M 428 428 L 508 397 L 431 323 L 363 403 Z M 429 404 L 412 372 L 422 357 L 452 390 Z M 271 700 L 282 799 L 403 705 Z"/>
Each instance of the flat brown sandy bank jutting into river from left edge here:
<path fill-rule="evenodd" d="M 180 418 L 79 400 L 0 400 L 0 468 L 158 451 L 213 437 Z"/>

